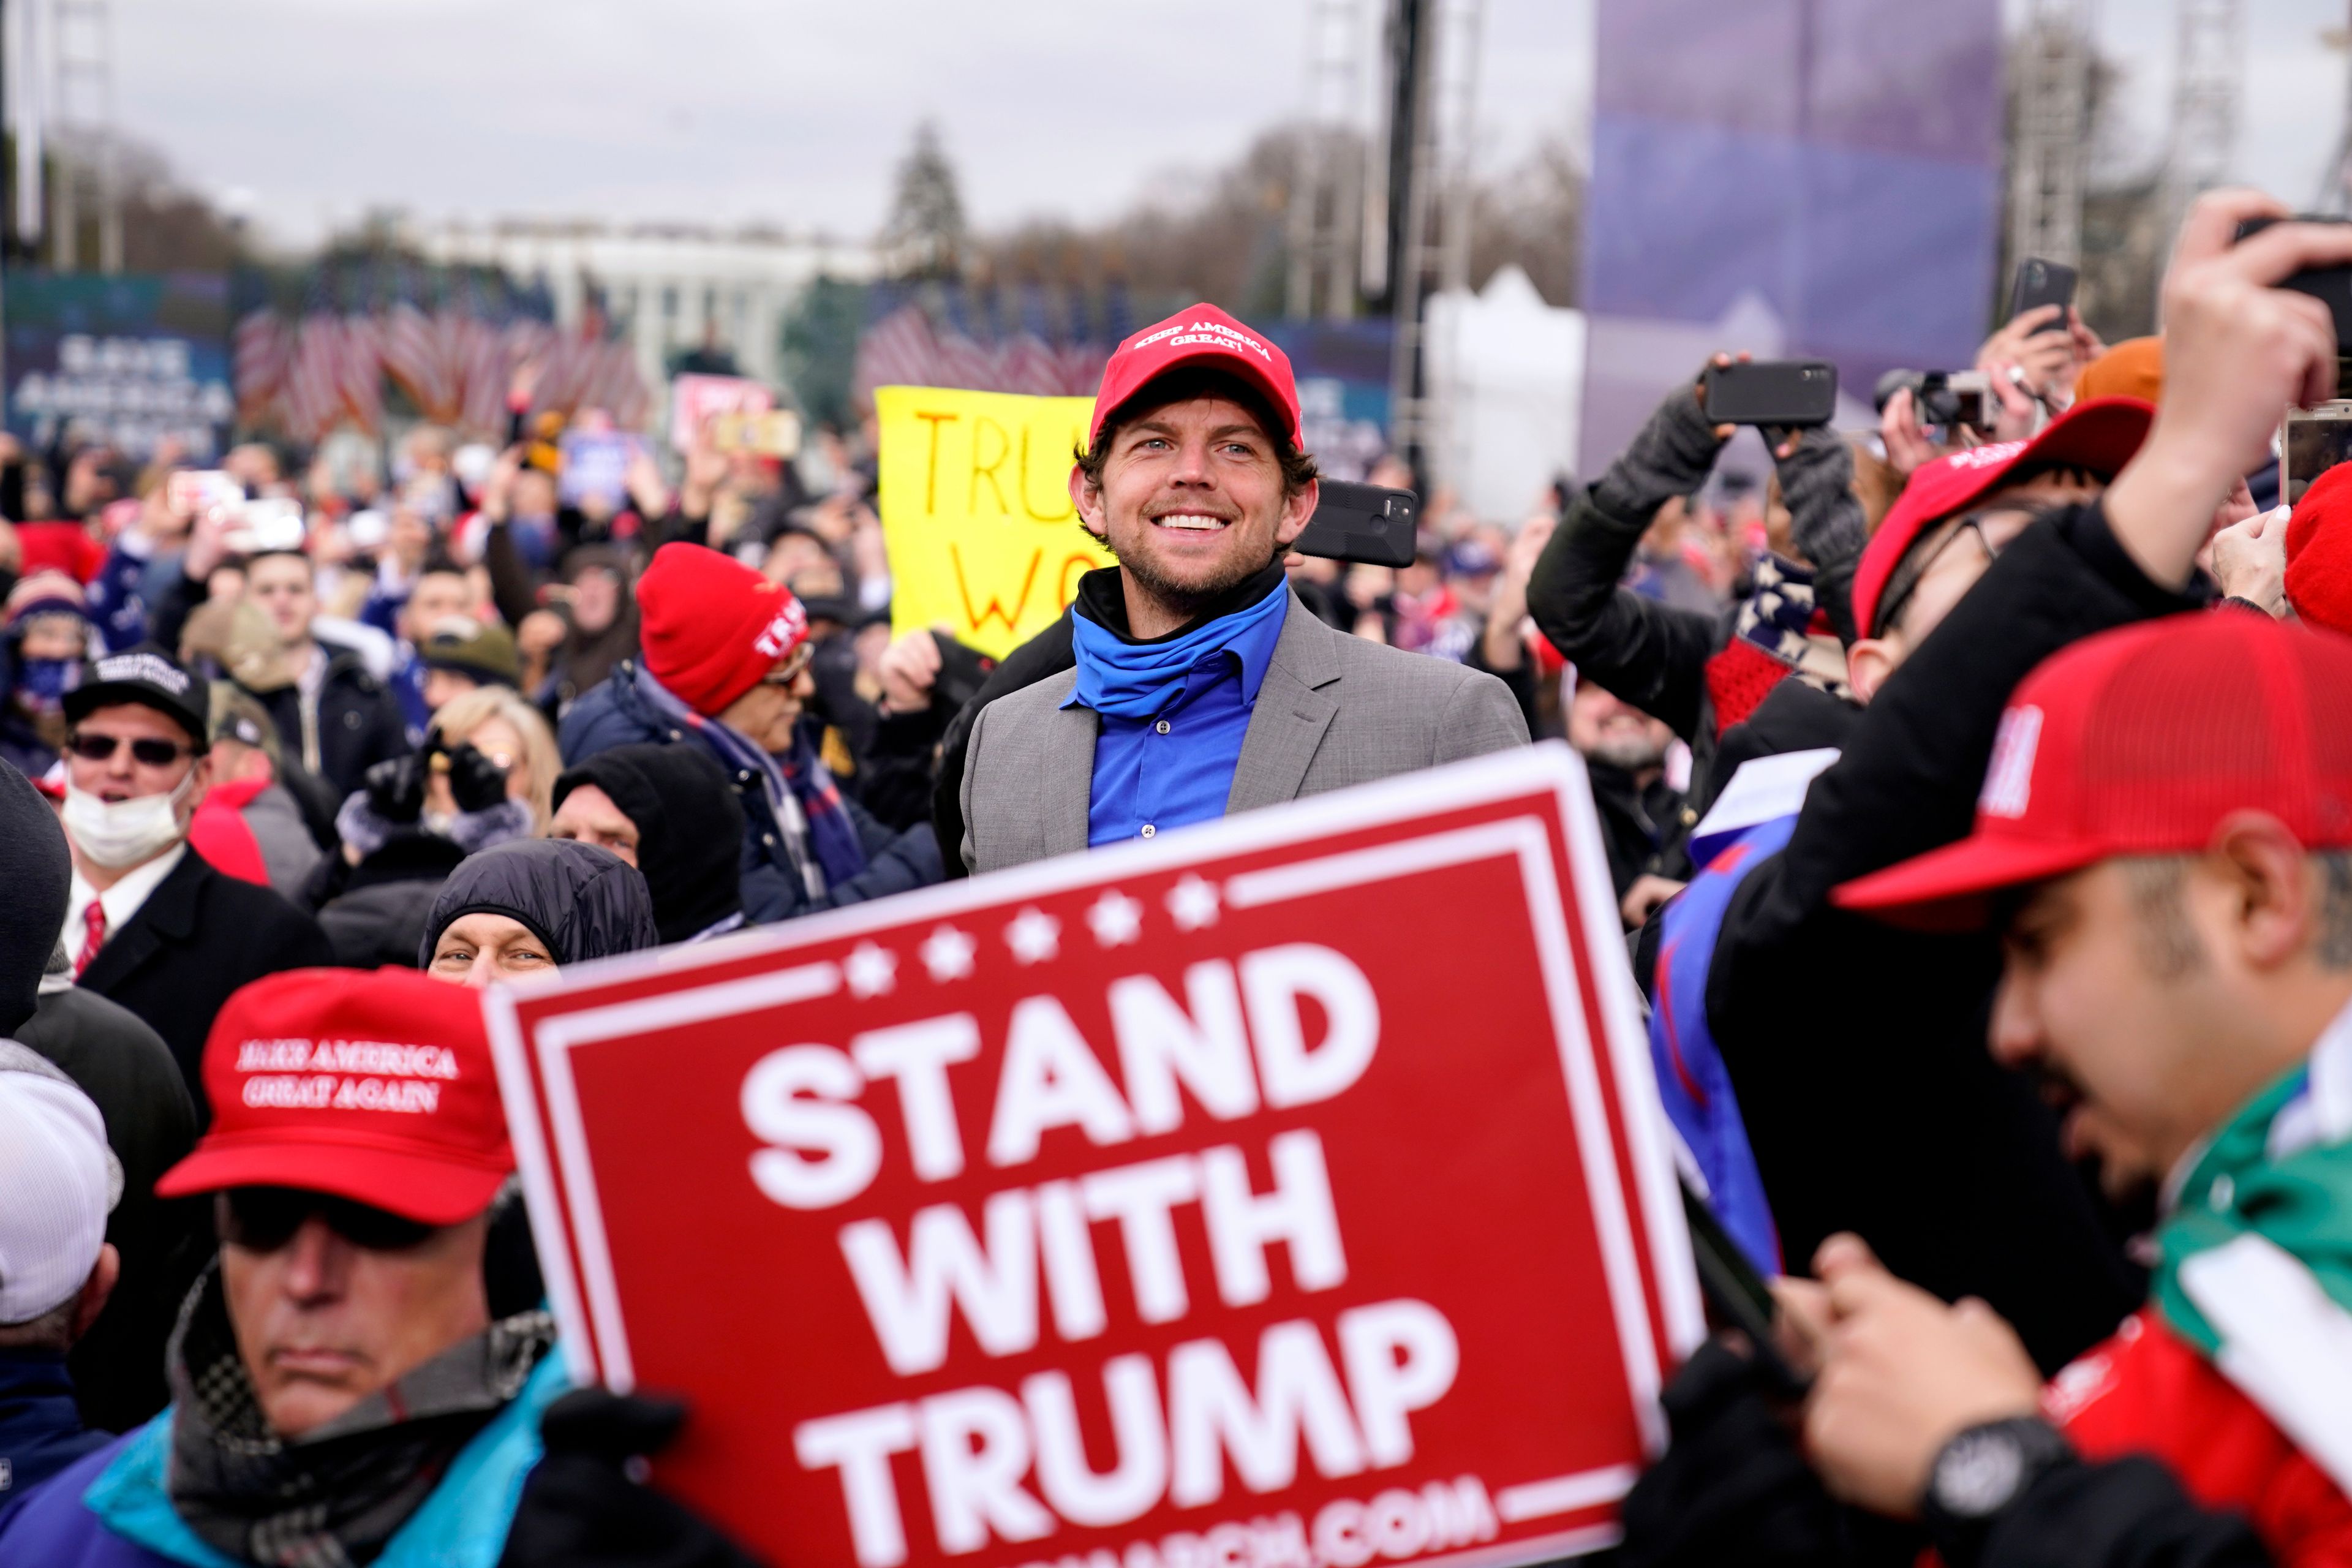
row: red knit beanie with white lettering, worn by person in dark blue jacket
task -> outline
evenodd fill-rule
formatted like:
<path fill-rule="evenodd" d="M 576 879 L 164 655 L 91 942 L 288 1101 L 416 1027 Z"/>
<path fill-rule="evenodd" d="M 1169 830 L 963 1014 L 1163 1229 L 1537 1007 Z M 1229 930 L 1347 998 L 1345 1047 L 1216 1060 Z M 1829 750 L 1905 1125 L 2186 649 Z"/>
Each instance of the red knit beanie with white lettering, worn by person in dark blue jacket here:
<path fill-rule="evenodd" d="M 790 588 L 689 543 L 654 550 L 637 578 L 637 614 L 644 668 L 703 717 L 717 717 L 809 637 Z"/>

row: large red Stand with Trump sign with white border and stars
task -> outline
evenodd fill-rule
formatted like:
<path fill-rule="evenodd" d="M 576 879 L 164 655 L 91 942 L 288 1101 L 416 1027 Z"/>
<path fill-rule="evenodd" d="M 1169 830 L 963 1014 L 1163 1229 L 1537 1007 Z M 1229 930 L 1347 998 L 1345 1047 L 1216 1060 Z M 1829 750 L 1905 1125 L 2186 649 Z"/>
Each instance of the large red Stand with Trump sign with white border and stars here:
<path fill-rule="evenodd" d="M 779 1563 L 1536 1563 L 1700 1338 L 1559 745 L 487 999 L 564 1349 Z"/>

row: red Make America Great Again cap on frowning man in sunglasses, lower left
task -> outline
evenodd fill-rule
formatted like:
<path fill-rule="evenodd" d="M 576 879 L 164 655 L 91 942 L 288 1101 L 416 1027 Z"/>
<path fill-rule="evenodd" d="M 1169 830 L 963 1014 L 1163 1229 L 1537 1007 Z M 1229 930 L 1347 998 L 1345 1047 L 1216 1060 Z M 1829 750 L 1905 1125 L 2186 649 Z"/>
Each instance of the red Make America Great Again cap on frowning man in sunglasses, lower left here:
<path fill-rule="evenodd" d="M 482 997 L 414 969 L 289 969 L 205 1039 L 212 1131 L 155 1194 L 301 1187 L 456 1225 L 515 1168 Z"/>

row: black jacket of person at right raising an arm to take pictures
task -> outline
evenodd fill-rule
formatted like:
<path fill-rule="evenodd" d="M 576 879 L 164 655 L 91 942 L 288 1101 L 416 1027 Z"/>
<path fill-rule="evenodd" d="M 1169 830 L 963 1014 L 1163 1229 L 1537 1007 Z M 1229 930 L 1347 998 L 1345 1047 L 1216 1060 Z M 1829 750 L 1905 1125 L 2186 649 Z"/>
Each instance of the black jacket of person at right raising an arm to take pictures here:
<path fill-rule="evenodd" d="M 1990 1300 L 2044 1373 L 2112 1333 L 2143 1279 L 2049 1107 L 1985 1048 L 1999 945 L 1849 914 L 1830 891 L 1966 837 L 2002 708 L 2037 663 L 2199 602 L 2150 583 L 2096 503 L 2025 529 L 1853 724 L 1788 849 L 1733 896 L 1708 971 L 1790 1265 L 1860 1232 L 1903 1279 Z"/>

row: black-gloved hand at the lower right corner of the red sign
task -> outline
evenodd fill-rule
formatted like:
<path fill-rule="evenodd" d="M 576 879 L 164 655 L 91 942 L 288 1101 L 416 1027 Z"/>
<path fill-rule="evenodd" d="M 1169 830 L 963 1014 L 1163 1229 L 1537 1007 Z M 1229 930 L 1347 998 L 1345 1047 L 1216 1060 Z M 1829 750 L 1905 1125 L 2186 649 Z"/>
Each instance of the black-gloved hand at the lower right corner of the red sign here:
<path fill-rule="evenodd" d="M 1672 1446 L 1625 1497 L 1616 1568 L 1846 1563 L 1839 1507 L 1764 1396 L 1755 1361 L 1722 1340 L 1665 1385 Z"/>

